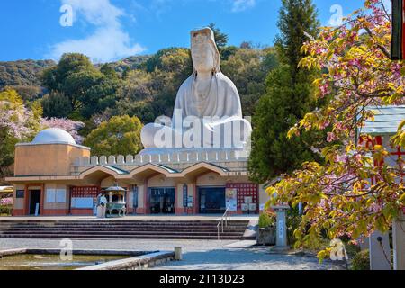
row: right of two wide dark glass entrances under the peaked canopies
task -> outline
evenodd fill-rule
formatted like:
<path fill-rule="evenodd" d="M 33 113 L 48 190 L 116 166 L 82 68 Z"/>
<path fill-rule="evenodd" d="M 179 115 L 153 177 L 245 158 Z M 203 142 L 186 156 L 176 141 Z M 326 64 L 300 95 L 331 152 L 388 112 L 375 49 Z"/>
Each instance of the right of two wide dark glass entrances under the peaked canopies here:
<path fill-rule="evenodd" d="M 226 211 L 225 187 L 200 187 L 198 194 L 201 214 L 223 214 Z"/>

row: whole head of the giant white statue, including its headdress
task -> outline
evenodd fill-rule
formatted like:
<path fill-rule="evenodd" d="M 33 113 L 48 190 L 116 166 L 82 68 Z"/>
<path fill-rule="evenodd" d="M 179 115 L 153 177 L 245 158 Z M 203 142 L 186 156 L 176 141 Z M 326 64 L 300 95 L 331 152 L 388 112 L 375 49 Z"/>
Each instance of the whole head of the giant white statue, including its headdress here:
<path fill-rule="evenodd" d="M 191 32 L 194 73 L 220 72 L 220 52 L 211 28 Z"/>

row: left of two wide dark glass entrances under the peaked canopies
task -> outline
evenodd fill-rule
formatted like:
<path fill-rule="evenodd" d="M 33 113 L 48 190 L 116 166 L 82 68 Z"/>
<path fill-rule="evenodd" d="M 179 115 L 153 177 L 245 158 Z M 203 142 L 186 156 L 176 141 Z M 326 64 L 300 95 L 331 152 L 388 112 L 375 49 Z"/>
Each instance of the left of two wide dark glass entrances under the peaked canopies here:
<path fill-rule="evenodd" d="M 150 188 L 151 214 L 175 214 L 175 188 Z"/>

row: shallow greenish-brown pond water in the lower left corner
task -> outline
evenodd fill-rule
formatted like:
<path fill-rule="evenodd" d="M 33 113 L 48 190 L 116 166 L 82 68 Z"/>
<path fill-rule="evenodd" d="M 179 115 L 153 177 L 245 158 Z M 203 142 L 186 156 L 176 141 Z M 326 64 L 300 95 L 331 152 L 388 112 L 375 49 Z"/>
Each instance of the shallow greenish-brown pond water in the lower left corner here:
<path fill-rule="evenodd" d="M 0 258 L 0 270 L 74 270 L 127 257 L 74 255 L 72 261 L 63 261 L 59 255 L 22 254 Z"/>

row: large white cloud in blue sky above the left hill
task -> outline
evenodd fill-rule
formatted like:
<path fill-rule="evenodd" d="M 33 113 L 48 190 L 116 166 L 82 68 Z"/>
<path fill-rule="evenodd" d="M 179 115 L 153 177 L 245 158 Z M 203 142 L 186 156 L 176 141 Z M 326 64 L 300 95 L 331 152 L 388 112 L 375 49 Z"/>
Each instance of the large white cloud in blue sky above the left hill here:
<path fill-rule="evenodd" d="M 62 0 L 74 11 L 74 25 L 78 20 L 95 26 L 92 35 L 80 40 L 65 40 L 51 47 L 50 58 L 58 59 L 63 53 L 83 53 L 94 62 L 109 62 L 138 54 L 144 49 L 124 31 L 120 17 L 124 12 L 110 0 Z"/>

